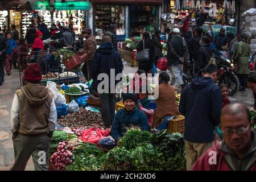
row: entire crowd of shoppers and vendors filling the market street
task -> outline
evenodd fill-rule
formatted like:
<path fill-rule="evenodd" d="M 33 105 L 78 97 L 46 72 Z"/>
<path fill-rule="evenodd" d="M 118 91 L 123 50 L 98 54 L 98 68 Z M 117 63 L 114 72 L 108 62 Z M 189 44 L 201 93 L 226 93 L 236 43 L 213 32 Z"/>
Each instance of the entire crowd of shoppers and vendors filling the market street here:
<path fill-rule="evenodd" d="M 11 32 L 3 30 L 3 35 L 0 36 L 0 84 L 4 81 L 3 69 L 10 75 L 12 65 L 16 66 L 14 56 L 17 47 L 27 52 L 28 44 L 32 44 L 34 54 L 34 64 L 28 65 L 24 70 L 24 80 L 27 84 L 15 92 L 11 108 L 11 131 L 15 151 L 15 164 L 12 169 L 24 170 L 31 155 L 36 161 L 38 150 L 44 150 L 47 154 L 49 152 L 57 112 L 52 93 L 40 85 L 40 81 L 42 73 L 53 69 L 50 63 L 55 61 L 52 60 L 55 49 L 74 46 L 74 33 L 72 25 L 57 27 L 53 24 L 48 30 L 42 23 L 39 30 L 36 30 L 32 24 L 26 38 L 19 39 L 15 26 L 11 29 Z M 200 27 L 185 32 L 181 32 L 179 28 L 166 28 L 167 65 L 171 77 L 166 72 L 160 73 L 159 85 L 152 88 L 153 92 L 159 93 L 159 97 L 152 98 L 152 90 L 147 88 L 146 92 L 143 92 L 142 88 L 150 84 L 148 73 L 154 71 L 154 65 L 163 57 L 163 46 L 159 30 L 153 35 L 144 32 L 137 52 L 147 49 L 148 57 L 139 62 L 138 71 L 126 88 L 130 92 L 122 96 L 124 108 L 115 113 L 115 94 L 98 92 L 101 81 L 97 78 L 100 73 L 105 73 L 111 82 L 110 69 L 115 70 L 115 75 L 123 71 L 122 59 L 117 50 L 116 31 L 117 26 L 111 24 L 110 30 L 102 37 L 101 46 L 97 48 L 92 30 L 83 28 L 82 37 L 86 40 L 79 40 L 77 47 L 84 49 L 84 54 L 80 56 L 80 59 L 85 61 L 81 71 L 86 80 L 93 79 L 90 93 L 100 100 L 102 120 L 105 127 L 110 129 L 117 146 L 127 127 L 131 125 L 138 126 L 143 131 L 154 132 L 167 129 L 170 117 L 182 114 L 185 117 L 187 170 L 256 170 L 255 131 L 252 129 L 249 110 L 243 104 L 230 104 L 228 86 L 216 85 L 218 67 L 210 63 L 213 52 L 226 49 L 238 65 L 236 73 L 240 79 L 240 90 L 245 91 L 247 84 L 256 93 L 256 76 L 248 77 L 247 57 L 250 54 L 250 46 L 246 34 L 241 34 L 239 38 L 231 34 L 226 36 L 225 29 L 221 28 L 220 33 L 213 39 L 212 32 L 204 32 Z M 58 42 L 47 47 L 43 43 L 43 40 L 47 39 L 58 39 Z M 42 60 L 37 60 L 40 51 L 47 49 L 51 50 L 48 55 Z M 27 55 L 20 56 L 21 58 L 16 60 L 20 61 Z M 193 65 L 194 79 L 185 85 L 183 66 L 187 60 Z M 45 64 L 49 68 L 45 67 Z M 25 65 L 26 63 L 24 68 Z M 115 85 L 107 85 L 108 89 L 112 89 L 116 84 L 117 82 Z M 174 85 L 182 89 L 179 106 L 176 104 Z M 136 88 L 139 88 L 138 93 L 134 92 Z M 221 138 L 221 142 L 216 140 L 216 136 Z M 217 164 L 208 163 L 209 151 L 217 152 Z M 34 164 L 37 170 L 48 168 L 48 162 L 45 165 Z"/>

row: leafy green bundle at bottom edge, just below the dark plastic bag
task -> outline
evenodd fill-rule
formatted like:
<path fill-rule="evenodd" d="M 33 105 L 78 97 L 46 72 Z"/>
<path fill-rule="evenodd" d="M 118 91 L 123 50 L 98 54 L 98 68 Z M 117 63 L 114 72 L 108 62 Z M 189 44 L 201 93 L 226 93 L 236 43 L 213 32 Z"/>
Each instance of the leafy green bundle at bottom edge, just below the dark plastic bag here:
<path fill-rule="evenodd" d="M 104 154 L 100 161 L 102 162 L 102 170 L 122 171 L 131 168 L 131 154 L 123 147 L 115 147 L 107 154 Z"/>

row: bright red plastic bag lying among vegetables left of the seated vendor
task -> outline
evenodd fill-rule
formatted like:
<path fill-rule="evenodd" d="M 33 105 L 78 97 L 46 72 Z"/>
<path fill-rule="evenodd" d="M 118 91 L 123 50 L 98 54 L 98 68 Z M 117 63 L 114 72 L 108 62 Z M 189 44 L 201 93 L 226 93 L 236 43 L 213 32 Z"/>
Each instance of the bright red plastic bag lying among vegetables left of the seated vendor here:
<path fill-rule="evenodd" d="M 82 131 L 82 141 L 94 143 L 98 146 L 98 141 L 106 138 L 109 135 L 109 130 L 100 130 L 96 127 Z"/>

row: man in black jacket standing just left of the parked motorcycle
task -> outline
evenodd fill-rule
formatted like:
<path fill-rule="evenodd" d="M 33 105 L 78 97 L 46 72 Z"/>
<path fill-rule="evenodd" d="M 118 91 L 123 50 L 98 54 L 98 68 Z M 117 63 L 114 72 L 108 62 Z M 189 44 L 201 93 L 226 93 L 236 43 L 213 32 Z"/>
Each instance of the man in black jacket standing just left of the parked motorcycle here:
<path fill-rule="evenodd" d="M 209 46 L 209 38 L 203 36 L 200 41 L 201 47 L 196 53 L 195 64 L 195 77 L 199 74 L 200 71 L 203 71 L 204 67 L 209 63 L 210 58 L 212 57 L 212 49 Z"/>

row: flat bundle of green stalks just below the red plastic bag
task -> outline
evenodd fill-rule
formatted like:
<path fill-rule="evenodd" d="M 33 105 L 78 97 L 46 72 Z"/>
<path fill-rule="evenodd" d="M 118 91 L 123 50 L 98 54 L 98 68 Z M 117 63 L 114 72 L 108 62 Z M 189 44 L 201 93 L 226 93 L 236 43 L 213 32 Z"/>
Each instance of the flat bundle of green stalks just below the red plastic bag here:
<path fill-rule="evenodd" d="M 87 143 L 87 142 L 80 142 L 73 148 L 73 154 L 84 154 L 84 155 L 94 155 L 94 156 L 102 156 L 104 152 L 100 150 L 96 146 L 96 144 L 93 143 Z"/>

